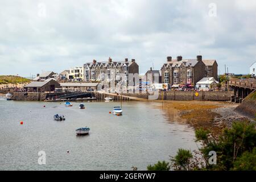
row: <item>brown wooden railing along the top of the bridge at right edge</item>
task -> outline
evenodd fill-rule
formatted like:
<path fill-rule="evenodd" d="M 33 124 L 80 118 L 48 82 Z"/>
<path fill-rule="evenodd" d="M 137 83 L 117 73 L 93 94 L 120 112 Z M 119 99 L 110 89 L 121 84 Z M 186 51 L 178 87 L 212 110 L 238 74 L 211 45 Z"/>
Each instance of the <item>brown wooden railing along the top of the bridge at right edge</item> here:
<path fill-rule="evenodd" d="M 247 88 L 247 89 L 256 89 L 256 79 L 237 79 L 231 78 L 229 80 L 230 86 L 238 86 L 240 88 Z"/>

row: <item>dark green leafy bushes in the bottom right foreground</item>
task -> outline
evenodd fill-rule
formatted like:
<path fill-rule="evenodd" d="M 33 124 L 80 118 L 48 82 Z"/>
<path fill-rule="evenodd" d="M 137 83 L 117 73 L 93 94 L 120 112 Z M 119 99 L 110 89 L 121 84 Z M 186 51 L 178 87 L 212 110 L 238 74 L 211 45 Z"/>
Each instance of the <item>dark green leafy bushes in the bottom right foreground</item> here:
<path fill-rule="evenodd" d="M 208 130 L 195 131 L 196 142 L 201 142 L 199 151 L 179 148 L 171 157 L 174 170 L 256 170 L 255 123 L 234 122 L 231 129 L 225 129 L 219 138 L 213 138 Z M 209 164 L 209 153 L 215 151 L 217 164 Z M 148 168 L 157 168 L 161 163 Z"/>

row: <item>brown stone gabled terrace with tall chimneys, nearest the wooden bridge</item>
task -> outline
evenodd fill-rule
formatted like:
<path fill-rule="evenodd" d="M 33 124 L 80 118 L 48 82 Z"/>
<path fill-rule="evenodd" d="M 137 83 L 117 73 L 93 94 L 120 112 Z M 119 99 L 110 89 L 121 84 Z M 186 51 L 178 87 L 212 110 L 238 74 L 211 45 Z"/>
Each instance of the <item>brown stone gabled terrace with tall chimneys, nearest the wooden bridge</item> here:
<path fill-rule="evenodd" d="M 196 59 L 183 59 L 182 56 L 172 59 L 168 56 L 167 63 L 161 68 L 162 82 L 174 87 L 194 87 L 203 77 L 217 79 L 217 67 L 216 60 L 203 60 L 201 55 Z"/>

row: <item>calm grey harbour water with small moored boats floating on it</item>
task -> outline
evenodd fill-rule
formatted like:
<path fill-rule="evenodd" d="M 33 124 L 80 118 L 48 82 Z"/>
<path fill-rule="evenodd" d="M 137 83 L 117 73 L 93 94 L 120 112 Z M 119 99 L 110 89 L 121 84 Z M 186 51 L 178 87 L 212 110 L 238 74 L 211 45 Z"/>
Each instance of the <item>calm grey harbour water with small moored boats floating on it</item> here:
<path fill-rule="evenodd" d="M 164 117 L 157 102 L 24 102 L 0 99 L 0 170 L 145 170 L 178 148 L 196 149 L 193 129 Z M 45 106 L 45 107 L 44 107 Z M 65 121 L 53 120 L 63 114 Z M 20 125 L 23 121 L 23 125 Z M 89 135 L 77 136 L 79 127 Z M 39 151 L 46 164 L 39 165 Z M 69 152 L 67 152 L 69 151 Z"/>

